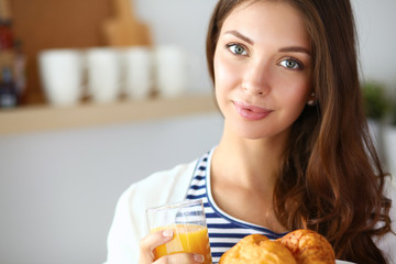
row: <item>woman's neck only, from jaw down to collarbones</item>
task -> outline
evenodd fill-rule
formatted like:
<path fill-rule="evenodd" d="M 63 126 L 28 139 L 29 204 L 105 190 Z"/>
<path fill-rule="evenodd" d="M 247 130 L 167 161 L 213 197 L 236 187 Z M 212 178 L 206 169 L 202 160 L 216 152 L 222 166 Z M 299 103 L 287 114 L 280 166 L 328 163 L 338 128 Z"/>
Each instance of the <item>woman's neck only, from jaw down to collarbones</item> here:
<path fill-rule="evenodd" d="M 212 177 L 273 194 L 286 138 L 241 139 L 224 130 L 212 158 Z"/>

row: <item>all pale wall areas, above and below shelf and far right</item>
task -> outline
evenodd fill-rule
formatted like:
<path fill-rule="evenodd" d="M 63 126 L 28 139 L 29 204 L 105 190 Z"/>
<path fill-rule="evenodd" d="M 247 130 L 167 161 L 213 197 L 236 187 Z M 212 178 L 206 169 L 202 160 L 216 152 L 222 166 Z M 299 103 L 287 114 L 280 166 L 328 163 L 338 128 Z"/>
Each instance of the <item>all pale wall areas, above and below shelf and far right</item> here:
<path fill-rule="evenodd" d="M 211 89 L 205 35 L 217 0 L 135 0 L 158 44 L 191 55 L 190 89 Z M 395 0 L 353 0 L 365 77 L 395 87 Z M 219 114 L 0 136 L 0 263 L 100 263 L 117 198 L 150 173 L 198 157 Z M 1 124 L 0 124 L 1 125 Z"/>

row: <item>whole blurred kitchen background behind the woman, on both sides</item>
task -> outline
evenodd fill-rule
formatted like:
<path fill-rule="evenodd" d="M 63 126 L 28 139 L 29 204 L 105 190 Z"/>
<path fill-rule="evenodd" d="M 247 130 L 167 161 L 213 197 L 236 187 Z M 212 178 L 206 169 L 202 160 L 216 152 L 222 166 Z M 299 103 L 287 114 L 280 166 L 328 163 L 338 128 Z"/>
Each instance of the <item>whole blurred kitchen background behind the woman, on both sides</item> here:
<path fill-rule="evenodd" d="M 0 263 L 102 263 L 121 193 L 217 144 L 216 2 L 0 1 Z M 366 114 L 396 173 L 396 1 L 352 2 Z"/>

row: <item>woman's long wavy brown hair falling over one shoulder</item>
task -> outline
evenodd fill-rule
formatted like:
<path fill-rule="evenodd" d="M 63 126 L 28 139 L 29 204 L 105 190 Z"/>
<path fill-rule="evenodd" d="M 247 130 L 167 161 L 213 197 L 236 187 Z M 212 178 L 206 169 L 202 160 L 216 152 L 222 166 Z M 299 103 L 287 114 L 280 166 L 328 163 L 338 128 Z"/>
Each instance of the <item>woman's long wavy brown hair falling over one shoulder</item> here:
<path fill-rule="evenodd" d="M 213 81 L 221 26 L 246 1 L 260 0 L 219 0 L 215 9 L 207 35 Z M 277 218 L 289 230 L 307 228 L 324 235 L 338 258 L 386 263 L 373 237 L 393 232 L 391 200 L 384 196 L 386 174 L 363 112 L 351 3 L 272 1 L 295 7 L 304 18 L 311 40 L 317 102 L 307 106 L 293 125 L 274 193 Z"/>

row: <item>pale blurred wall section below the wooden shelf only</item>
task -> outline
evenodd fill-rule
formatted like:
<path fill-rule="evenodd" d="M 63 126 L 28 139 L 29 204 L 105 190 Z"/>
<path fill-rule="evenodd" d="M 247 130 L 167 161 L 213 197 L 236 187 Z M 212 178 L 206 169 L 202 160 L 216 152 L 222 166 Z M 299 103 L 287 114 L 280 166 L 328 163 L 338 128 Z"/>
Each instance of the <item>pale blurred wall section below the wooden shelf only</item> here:
<path fill-rule="evenodd" d="M 198 158 L 221 130 L 213 113 L 1 136 L 0 263 L 101 263 L 121 193 Z"/>

